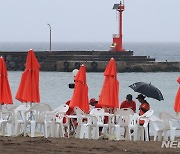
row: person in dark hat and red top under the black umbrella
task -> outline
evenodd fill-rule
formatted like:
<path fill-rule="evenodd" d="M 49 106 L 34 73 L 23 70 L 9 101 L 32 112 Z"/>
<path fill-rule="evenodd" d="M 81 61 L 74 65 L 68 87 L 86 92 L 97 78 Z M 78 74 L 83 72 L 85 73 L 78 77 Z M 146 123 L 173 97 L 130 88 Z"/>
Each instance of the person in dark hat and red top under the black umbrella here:
<path fill-rule="evenodd" d="M 149 103 L 145 100 L 145 96 L 142 94 L 139 94 L 137 96 L 138 101 L 141 103 L 139 106 L 139 115 L 143 115 L 144 113 L 146 113 L 148 110 L 150 110 L 150 105 Z M 144 120 L 139 120 L 139 125 L 143 125 L 144 124 Z M 149 124 L 148 124 L 148 134 L 149 134 Z M 144 140 L 145 140 L 145 133 L 144 133 Z M 150 134 L 149 134 L 149 140 L 150 140 Z"/>

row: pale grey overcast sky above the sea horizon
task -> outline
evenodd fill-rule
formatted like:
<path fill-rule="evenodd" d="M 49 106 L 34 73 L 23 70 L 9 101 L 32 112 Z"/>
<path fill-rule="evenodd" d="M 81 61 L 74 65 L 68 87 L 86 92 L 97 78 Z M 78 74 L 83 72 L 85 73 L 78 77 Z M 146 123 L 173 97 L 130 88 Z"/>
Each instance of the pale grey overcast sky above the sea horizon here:
<path fill-rule="evenodd" d="M 124 42 L 180 42 L 180 0 L 124 0 Z M 111 42 L 119 0 L 0 0 L 0 42 Z"/>

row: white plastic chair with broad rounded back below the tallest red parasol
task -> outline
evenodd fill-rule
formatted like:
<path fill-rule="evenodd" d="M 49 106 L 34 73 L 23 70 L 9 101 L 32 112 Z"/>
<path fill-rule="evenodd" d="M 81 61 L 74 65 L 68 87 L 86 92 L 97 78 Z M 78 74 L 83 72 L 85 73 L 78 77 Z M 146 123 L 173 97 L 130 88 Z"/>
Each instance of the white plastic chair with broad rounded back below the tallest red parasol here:
<path fill-rule="evenodd" d="M 43 126 L 44 131 L 43 134 L 45 137 L 47 137 L 47 130 L 46 130 L 46 114 L 47 112 L 52 111 L 51 107 L 48 104 L 43 104 L 43 103 L 39 103 L 39 104 L 35 104 L 33 105 L 28 111 L 25 112 L 25 126 L 24 126 L 24 134 L 26 135 L 27 132 L 27 127 L 28 125 L 30 125 L 30 136 L 31 137 L 35 137 L 35 131 L 36 128 L 38 128 L 37 126 L 40 125 L 40 132 L 41 132 L 41 128 Z"/>

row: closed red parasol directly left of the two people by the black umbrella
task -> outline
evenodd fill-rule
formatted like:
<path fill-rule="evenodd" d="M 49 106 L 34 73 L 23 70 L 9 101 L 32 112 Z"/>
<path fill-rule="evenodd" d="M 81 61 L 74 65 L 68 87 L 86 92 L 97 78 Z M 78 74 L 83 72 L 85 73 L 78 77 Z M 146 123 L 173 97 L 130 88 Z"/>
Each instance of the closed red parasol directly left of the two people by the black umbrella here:
<path fill-rule="evenodd" d="M 102 107 L 119 107 L 119 82 L 117 80 L 116 61 L 111 58 L 104 72 L 105 80 L 98 104 Z"/>

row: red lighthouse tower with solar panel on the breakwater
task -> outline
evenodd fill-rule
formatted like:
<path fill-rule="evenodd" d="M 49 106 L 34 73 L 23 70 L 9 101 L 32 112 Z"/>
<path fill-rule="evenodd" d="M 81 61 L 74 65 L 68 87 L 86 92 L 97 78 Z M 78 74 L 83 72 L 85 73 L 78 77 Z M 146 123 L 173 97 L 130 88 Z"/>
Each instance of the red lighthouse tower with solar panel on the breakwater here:
<path fill-rule="evenodd" d="M 122 52 L 122 12 L 124 11 L 124 3 L 114 4 L 113 9 L 119 12 L 119 34 L 113 34 L 113 43 L 111 45 L 111 51 Z"/>

